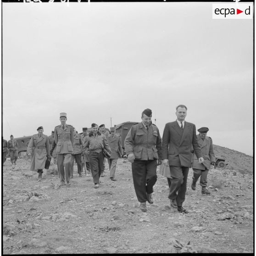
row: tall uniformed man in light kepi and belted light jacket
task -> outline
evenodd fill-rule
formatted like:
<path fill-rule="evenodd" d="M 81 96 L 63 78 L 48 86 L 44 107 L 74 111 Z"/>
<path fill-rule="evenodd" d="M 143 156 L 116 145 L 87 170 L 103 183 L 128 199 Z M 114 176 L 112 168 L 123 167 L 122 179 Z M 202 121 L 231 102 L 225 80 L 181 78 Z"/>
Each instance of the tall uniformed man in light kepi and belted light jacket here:
<path fill-rule="evenodd" d="M 60 113 L 61 124 L 54 128 L 56 159 L 61 185 L 70 186 L 71 154 L 73 153 L 74 134 L 72 125 L 66 124 L 67 113 Z M 52 155 L 52 151 L 51 151 Z"/>

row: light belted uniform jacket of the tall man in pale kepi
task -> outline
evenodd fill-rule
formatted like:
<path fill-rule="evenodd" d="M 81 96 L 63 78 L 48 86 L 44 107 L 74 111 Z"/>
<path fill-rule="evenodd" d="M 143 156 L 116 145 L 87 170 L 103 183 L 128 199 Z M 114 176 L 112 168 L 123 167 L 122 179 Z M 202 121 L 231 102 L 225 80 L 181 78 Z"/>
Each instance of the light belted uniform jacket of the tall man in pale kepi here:
<path fill-rule="evenodd" d="M 64 129 L 62 125 L 54 128 L 54 141 L 56 144 L 56 154 L 73 153 L 74 133 L 72 125 L 66 124 Z"/>

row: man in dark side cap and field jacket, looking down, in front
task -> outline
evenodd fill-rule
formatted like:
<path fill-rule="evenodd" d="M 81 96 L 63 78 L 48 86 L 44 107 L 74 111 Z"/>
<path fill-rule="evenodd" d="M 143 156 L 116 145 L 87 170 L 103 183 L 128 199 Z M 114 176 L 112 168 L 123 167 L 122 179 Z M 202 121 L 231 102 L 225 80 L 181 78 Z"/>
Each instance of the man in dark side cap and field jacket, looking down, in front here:
<path fill-rule="evenodd" d="M 161 137 L 156 125 L 151 122 L 152 111 L 145 109 L 142 122 L 129 130 L 124 148 L 132 163 L 134 189 L 140 202 L 140 210 L 147 211 L 146 201 L 153 204 L 153 186 L 156 184 L 156 167 L 161 164 Z"/>

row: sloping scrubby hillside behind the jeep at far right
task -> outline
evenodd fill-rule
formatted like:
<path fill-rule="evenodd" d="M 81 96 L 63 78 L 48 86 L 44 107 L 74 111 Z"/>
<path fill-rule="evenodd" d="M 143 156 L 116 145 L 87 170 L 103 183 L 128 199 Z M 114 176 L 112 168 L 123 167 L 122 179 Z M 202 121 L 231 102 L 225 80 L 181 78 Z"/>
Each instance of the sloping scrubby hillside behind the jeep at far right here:
<path fill-rule="evenodd" d="M 215 156 L 225 157 L 227 169 L 239 173 L 253 173 L 253 157 L 236 150 L 231 150 L 218 145 L 213 145 Z"/>

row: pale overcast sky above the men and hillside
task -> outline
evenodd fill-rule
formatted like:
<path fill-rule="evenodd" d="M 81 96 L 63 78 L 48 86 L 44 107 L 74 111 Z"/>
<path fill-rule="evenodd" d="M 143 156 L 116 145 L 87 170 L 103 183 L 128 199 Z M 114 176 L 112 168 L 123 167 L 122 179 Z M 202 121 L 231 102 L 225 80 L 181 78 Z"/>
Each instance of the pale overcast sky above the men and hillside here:
<path fill-rule="evenodd" d="M 140 122 L 187 106 L 213 144 L 253 155 L 253 20 L 211 2 L 2 3 L 2 135 Z M 156 120 L 155 120 L 156 119 Z"/>

